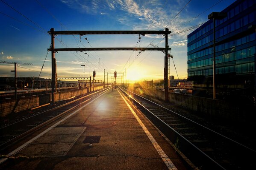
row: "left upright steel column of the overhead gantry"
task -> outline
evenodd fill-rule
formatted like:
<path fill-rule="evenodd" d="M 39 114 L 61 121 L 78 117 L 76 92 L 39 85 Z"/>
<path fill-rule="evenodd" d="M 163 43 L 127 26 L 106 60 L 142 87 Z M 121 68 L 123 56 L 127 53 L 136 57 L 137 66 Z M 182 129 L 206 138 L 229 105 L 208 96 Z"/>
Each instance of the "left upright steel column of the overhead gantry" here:
<path fill-rule="evenodd" d="M 54 104 L 54 92 L 56 90 L 56 59 L 55 59 L 55 51 L 54 51 L 54 28 L 51 28 L 51 50 L 52 50 L 52 104 Z"/>

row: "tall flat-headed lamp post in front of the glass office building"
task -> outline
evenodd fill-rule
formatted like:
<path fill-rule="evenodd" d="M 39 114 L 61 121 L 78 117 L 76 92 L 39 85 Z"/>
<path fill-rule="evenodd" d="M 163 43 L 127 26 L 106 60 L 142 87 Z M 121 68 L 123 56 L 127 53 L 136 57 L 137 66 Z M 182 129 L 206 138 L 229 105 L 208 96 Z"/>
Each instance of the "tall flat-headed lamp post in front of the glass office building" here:
<path fill-rule="evenodd" d="M 212 12 L 208 15 L 209 20 L 213 20 L 213 99 L 216 99 L 216 85 L 215 85 L 215 73 L 216 73 L 216 59 L 215 59 L 215 20 L 221 20 L 227 17 L 227 13 L 225 12 Z"/>

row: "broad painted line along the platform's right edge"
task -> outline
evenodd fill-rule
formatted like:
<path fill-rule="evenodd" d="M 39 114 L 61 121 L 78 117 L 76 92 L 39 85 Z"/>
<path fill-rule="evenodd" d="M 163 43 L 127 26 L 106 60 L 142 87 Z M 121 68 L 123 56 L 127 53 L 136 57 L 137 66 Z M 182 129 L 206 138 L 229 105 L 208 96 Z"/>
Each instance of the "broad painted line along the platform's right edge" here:
<path fill-rule="evenodd" d="M 122 94 L 120 93 L 120 91 L 118 90 L 118 93 L 121 95 L 121 97 L 124 99 L 124 97 L 122 96 Z M 151 135 L 151 133 L 147 130 L 147 127 L 141 122 L 141 119 L 138 117 L 138 115 L 135 113 L 135 111 L 133 111 L 132 107 L 129 105 L 129 103 L 124 99 L 124 102 L 126 103 L 126 105 L 128 106 L 128 108 L 130 109 L 130 111 L 132 112 L 132 114 L 134 115 L 134 117 L 137 119 L 138 123 L 141 125 L 142 129 L 144 130 L 144 132 L 146 133 L 147 137 L 149 138 L 150 142 L 153 144 L 153 146 L 155 147 L 156 151 L 158 152 L 159 156 L 162 158 L 162 160 L 164 161 L 165 165 L 167 166 L 168 170 L 178 170 L 175 165 L 173 164 L 173 162 L 171 161 L 171 159 L 165 154 L 165 152 L 162 150 L 162 148 L 159 146 L 159 144 L 156 142 L 156 140 L 154 139 L 154 137 Z"/>

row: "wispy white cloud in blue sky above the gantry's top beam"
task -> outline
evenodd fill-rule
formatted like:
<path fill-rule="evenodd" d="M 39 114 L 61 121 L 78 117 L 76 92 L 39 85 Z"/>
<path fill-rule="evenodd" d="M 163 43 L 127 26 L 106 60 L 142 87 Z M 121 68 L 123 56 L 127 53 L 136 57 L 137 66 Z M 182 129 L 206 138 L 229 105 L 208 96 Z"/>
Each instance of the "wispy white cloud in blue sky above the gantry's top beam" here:
<path fill-rule="evenodd" d="M 187 3 L 185 0 L 168 1 L 165 8 L 159 13 L 165 4 L 161 0 L 136 1 L 136 0 L 60 0 L 70 8 L 81 13 L 109 14 L 116 17 L 120 23 L 131 26 L 133 29 L 151 28 L 161 30 L 174 18 L 182 7 Z M 112 13 L 111 13 L 112 12 Z M 186 16 L 178 15 L 168 26 L 175 30 L 181 23 L 186 21 Z M 175 23 L 175 24 L 174 24 Z"/>

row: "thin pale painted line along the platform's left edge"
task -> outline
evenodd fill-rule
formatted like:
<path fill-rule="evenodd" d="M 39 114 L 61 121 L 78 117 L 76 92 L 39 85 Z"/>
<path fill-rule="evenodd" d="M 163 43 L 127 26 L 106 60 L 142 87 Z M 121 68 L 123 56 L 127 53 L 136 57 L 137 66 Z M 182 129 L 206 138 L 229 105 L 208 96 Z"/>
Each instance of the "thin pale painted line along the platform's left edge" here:
<path fill-rule="evenodd" d="M 94 100 L 96 100 L 97 98 L 99 98 L 100 96 L 102 96 L 103 94 L 105 94 L 107 91 L 103 92 L 102 94 L 100 94 L 99 96 L 97 96 L 95 99 L 91 100 L 91 102 L 93 102 Z M 70 118 L 71 116 L 73 116 L 74 114 L 76 114 L 78 111 L 81 111 L 85 106 L 89 105 L 91 102 L 88 102 L 86 105 L 82 106 L 81 108 L 77 109 L 76 111 L 74 111 L 73 113 L 71 113 L 70 115 L 66 116 L 64 119 L 60 120 L 59 122 L 57 122 L 56 124 L 52 125 L 51 127 L 49 127 L 48 129 L 44 130 L 43 132 L 41 132 L 39 135 L 35 136 L 34 138 L 30 139 L 28 142 L 24 143 L 23 145 L 21 145 L 20 147 L 18 147 L 17 149 L 13 150 L 12 152 L 8 153 L 6 156 L 10 157 L 15 155 L 16 153 L 18 153 L 19 151 L 23 150 L 25 147 L 27 147 L 29 144 L 31 144 L 32 142 L 34 142 L 36 139 L 38 139 L 39 137 L 43 136 L 45 133 L 49 132 L 50 130 L 52 130 L 54 127 L 58 126 L 61 122 L 64 122 L 65 120 L 67 120 L 68 118 Z M 3 162 L 5 162 L 8 158 L 2 158 L 0 159 L 0 164 L 2 164 Z"/>

